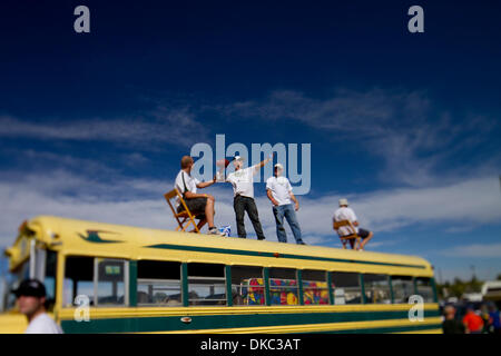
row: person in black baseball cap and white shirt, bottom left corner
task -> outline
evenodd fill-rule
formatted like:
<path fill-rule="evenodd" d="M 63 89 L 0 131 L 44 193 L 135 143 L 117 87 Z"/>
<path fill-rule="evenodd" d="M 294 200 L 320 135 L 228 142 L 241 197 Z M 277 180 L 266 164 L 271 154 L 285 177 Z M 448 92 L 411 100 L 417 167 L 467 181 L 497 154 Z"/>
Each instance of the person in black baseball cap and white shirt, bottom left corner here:
<path fill-rule="evenodd" d="M 62 334 L 59 325 L 46 312 L 46 287 L 38 279 L 26 279 L 12 293 L 19 312 L 28 318 L 24 334 Z"/>

